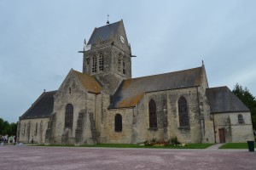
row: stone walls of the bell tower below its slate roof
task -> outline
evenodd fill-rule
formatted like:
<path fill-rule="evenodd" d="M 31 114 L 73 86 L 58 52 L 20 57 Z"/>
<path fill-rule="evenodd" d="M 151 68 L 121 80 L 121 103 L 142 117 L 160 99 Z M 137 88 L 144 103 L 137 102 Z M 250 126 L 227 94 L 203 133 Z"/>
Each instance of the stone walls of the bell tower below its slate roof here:
<path fill-rule="evenodd" d="M 123 33 L 125 33 L 123 31 Z M 125 37 L 126 38 L 126 37 Z M 99 68 L 100 54 L 103 55 L 103 71 Z M 96 71 L 92 71 L 96 56 Z M 120 65 L 118 63 L 120 60 Z M 123 65 L 125 62 L 125 66 Z M 118 65 L 120 68 L 118 68 Z M 125 73 L 123 72 L 125 69 Z M 131 51 L 128 44 L 120 43 L 119 36 L 107 42 L 96 42 L 89 51 L 84 52 L 83 72 L 96 77 L 113 94 L 124 79 L 131 78 Z"/>

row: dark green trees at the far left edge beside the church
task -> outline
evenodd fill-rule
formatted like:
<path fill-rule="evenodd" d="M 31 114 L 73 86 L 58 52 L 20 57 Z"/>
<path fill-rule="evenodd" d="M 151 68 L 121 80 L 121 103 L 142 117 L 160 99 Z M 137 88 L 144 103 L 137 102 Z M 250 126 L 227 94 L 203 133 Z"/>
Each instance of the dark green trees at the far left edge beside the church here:
<path fill-rule="evenodd" d="M 4 121 L 3 118 L 0 118 L 0 135 L 16 135 L 17 132 L 17 123 L 9 123 Z"/>

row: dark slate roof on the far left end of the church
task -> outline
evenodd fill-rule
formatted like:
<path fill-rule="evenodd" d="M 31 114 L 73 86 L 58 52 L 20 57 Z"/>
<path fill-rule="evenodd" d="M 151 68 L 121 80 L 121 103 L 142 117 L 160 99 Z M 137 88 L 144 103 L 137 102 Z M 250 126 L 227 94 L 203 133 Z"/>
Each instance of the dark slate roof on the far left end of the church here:
<path fill-rule="evenodd" d="M 57 91 L 44 92 L 33 105 L 22 115 L 20 119 L 49 117 L 53 111 L 54 94 Z"/>

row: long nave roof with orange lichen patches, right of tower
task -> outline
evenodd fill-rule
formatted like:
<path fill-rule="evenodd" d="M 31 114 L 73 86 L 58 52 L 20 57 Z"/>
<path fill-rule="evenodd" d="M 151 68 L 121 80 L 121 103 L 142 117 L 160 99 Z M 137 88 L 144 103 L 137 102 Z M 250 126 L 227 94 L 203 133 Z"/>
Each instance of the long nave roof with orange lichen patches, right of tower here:
<path fill-rule="evenodd" d="M 198 87 L 202 67 L 123 81 L 111 99 L 110 109 L 137 105 L 146 92 Z"/>

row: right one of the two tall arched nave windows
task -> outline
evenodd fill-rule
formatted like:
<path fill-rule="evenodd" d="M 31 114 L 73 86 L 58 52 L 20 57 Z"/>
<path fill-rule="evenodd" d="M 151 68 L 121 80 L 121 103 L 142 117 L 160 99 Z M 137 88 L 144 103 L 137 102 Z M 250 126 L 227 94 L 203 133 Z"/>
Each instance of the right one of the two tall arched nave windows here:
<path fill-rule="evenodd" d="M 187 100 L 182 96 L 178 99 L 178 116 L 179 116 L 179 126 L 188 127 L 189 126 L 189 114 Z"/>

